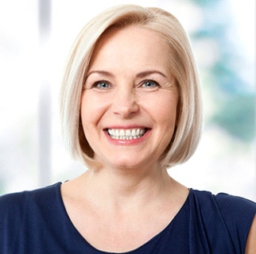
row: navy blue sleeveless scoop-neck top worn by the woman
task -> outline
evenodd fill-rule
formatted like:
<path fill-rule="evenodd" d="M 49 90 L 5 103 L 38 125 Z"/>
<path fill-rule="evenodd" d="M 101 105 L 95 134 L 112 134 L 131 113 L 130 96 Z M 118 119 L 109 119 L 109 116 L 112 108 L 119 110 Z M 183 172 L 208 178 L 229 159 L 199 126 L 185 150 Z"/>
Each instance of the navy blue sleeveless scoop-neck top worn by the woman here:
<path fill-rule="evenodd" d="M 0 197 L 1 254 L 110 254 L 91 246 L 64 208 L 60 184 Z M 173 221 L 126 254 L 244 253 L 256 203 L 190 190 Z"/>

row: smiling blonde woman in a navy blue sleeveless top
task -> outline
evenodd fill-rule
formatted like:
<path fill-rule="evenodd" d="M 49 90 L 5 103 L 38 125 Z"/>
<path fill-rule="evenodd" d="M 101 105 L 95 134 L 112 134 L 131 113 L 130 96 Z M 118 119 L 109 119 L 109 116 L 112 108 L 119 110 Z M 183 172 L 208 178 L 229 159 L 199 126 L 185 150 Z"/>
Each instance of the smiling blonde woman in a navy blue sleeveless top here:
<path fill-rule="evenodd" d="M 256 204 L 189 190 L 167 168 L 200 139 L 199 82 L 180 23 L 117 6 L 81 31 L 61 116 L 77 179 L 0 200 L 1 253 L 255 253 Z"/>

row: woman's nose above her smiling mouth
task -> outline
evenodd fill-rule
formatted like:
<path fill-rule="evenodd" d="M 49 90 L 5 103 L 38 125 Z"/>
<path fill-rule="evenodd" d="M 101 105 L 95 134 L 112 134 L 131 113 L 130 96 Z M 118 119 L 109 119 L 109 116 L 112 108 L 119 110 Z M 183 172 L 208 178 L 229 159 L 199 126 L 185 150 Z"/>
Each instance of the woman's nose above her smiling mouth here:
<path fill-rule="evenodd" d="M 122 118 L 129 118 L 136 114 L 139 106 L 135 88 L 119 87 L 114 93 L 111 107 L 114 114 Z"/>

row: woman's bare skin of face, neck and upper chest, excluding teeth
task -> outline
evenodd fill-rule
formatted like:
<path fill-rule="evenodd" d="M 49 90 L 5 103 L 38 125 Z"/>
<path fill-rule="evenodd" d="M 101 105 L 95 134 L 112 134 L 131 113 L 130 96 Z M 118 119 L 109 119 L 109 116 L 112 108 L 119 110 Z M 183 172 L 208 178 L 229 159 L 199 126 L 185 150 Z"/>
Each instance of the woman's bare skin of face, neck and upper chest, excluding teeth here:
<path fill-rule="evenodd" d="M 158 161 L 178 110 L 169 57 L 165 40 L 138 26 L 108 31 L 92 56 L 81 118 L 103 167 L 62 184 L 61 193 L 73 225 L 100 250 L 127 252 L 145 244 L 188 197 L 188 188 Z M 134 140 L 115 140 L 106 131 L 139 128 L 147 132 Z"/>

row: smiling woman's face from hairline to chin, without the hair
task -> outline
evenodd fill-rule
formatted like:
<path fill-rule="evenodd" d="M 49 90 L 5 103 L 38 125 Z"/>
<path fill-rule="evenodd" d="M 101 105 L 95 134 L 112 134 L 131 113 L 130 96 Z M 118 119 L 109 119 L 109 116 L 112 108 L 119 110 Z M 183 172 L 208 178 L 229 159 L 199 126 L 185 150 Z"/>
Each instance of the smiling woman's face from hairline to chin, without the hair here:
<path fill-rule="evenodd" d="M 159 166 L 178 92 L 169 46 L 140 26 L 111 29 L 95 48 L 81 99 L 83 131 L 103 167 Z"/>

